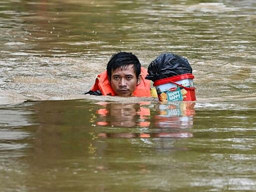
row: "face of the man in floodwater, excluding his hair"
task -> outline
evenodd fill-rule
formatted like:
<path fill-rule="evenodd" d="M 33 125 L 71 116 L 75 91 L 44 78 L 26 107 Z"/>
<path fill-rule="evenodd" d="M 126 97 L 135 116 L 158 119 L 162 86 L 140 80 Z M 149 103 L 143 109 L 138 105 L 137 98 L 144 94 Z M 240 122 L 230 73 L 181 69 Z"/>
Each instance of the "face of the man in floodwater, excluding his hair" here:
<path fill-rule="evenodd" d="M 116 68 L 111 72 L 111 87 L 118 96 L 129 96 L 140 83 L 141 75 L 136 78 L 133 64 Z"/>

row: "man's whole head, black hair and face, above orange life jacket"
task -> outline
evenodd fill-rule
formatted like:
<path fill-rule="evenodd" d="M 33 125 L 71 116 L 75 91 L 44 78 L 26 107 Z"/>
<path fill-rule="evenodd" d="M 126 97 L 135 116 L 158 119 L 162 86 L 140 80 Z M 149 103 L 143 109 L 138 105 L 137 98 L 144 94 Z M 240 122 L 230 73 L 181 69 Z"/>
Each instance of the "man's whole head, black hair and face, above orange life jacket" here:
<path fill-rule="evenodd" d="M 107 77 L 118 96 L 129 96 L 141 81 L 140 62 L 130 52 L 118 52 L 107 63 Z"/>

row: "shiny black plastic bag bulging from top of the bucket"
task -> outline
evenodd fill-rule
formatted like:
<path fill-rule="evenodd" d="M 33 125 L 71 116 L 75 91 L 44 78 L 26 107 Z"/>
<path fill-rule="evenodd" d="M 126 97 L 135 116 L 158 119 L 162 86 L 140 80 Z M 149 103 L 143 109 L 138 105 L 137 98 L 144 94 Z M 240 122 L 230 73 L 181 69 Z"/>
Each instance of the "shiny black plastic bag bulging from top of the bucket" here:
<path fill-rule="evenodd" d="M 192 73 L 187 59 L 173 53 L 161 53 L 147 68 L 146 79 L 155 81 L 179 74 Z"/>

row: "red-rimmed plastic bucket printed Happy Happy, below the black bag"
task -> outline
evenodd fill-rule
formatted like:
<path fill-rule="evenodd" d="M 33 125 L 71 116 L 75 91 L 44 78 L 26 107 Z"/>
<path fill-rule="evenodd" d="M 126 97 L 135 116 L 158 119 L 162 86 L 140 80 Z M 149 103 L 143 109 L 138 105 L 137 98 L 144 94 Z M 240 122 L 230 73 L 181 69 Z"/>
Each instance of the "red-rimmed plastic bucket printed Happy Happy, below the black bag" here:
<path fill-rule="evenodd" d="M 185 73 L 155 80 L 153 86 L 156 88 L 158 99 L 160 101 L 194 101 L 193 78 L 193 74 Z"/>

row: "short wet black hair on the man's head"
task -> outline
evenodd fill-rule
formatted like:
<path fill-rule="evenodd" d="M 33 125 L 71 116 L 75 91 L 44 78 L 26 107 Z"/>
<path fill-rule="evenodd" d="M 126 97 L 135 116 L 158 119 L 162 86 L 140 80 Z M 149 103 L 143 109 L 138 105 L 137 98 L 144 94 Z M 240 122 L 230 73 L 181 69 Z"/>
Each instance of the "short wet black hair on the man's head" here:
<path fill-rule="evenodd" d="M 118 52 L 116 54 L 113 54 L 106 66 L 108 79 L 111 79 L 111 73 L 113 70 L 119 67 L 123 69 L 129 64 L 133 64 L 136 78 L 138 78 L 138 75 L 140 74 L 140 62 L 134 54 L 132 54 L 131 52 Z"/>

